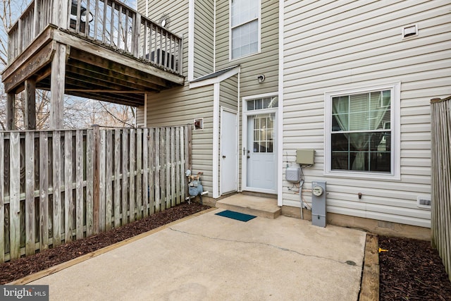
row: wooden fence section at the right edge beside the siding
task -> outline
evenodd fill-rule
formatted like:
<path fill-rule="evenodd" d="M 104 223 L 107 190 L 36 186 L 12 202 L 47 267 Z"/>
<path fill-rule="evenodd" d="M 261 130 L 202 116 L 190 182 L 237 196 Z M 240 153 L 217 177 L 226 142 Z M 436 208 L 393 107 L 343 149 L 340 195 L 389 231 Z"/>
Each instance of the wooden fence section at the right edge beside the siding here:
<path fill-rule="evenodd" d="M 451 97 L 431 99 L 432 244 L 451 281 Z"/>

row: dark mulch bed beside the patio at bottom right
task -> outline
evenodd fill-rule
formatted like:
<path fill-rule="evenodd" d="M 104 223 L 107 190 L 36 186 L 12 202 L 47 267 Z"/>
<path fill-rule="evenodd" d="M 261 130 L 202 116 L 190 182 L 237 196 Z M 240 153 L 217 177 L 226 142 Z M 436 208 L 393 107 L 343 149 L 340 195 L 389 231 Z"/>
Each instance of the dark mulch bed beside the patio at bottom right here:
<path fill-rule="evenodd" d="M 431 242 L 379 237 L 381 300 L 451 300 L 451 282 Z"/>

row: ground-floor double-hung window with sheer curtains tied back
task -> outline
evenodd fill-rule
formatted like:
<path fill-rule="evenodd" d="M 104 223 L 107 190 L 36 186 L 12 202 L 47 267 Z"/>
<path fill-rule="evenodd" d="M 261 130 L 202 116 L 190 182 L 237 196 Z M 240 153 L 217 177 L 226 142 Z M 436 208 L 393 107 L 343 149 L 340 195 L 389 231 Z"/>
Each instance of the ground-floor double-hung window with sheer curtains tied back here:
<path fill-rule="evenodd" d="M 326 93 L 326 174 L 399 176 L 399 86 Z"/>

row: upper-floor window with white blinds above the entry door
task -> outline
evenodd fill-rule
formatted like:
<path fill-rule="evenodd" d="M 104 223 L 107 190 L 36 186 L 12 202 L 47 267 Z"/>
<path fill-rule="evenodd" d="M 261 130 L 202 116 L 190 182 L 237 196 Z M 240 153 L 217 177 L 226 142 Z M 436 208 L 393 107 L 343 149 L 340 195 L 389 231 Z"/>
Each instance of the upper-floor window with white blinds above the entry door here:
<path fill-rule="evenodd" d="M 230 0 L 230 59 L 260 50 L 260 0 Z"/>

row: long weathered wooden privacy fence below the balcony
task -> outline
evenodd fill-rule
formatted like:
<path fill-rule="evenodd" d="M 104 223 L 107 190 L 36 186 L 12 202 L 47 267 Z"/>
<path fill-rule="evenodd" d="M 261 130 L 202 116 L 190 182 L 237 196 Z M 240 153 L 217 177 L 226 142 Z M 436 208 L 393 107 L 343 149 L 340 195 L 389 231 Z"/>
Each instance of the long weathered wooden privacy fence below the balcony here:
<path fill-rule="evenodd" d="M 0 262 L 185 201 L 191 128 L 0 132 Z"/>

